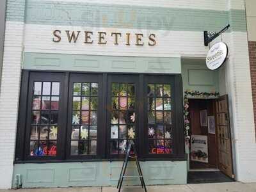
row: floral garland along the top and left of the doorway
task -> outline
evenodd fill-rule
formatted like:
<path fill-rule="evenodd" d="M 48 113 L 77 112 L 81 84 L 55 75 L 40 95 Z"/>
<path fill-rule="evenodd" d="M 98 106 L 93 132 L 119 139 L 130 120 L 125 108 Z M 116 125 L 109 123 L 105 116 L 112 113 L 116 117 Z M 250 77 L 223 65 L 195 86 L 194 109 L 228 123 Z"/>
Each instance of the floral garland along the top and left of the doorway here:
<path fill-rule="evenodd" d="M 218 92 L 198 92 L 195 90 L 186 90 L 184 95 L 184 126 L 185 126 L 185 142 L 189 144 L 190 136 L 189 136 L 189 102 L 188 97 L 191 98 L 201 98 L 201 99 L 213 99 L 220 97 L 220 93 Z"/>

